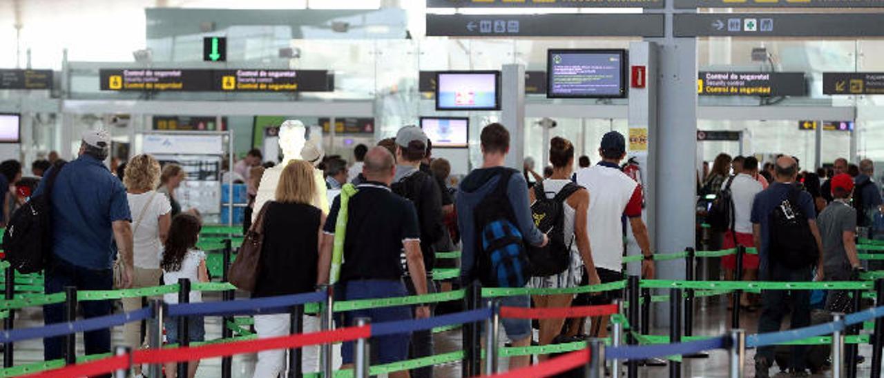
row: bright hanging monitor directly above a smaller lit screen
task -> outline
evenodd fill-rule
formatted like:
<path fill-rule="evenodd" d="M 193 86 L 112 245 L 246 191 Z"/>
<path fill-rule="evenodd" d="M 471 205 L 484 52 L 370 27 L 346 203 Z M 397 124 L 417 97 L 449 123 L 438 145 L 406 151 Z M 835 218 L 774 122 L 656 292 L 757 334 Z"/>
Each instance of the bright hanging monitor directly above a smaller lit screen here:
<path fill-rule="evenodd" d="M 436 72 L 436 110 L 499 110 L 500 72 Z"/>

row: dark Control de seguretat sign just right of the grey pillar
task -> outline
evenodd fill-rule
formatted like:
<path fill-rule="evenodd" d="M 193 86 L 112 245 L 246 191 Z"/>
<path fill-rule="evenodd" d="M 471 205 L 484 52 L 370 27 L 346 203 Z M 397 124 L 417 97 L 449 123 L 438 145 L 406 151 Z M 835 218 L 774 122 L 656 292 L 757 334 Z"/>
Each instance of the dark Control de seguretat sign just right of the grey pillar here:
<path fill-rule="evenodd" d="M 698 72 L 697 95 L 807 95 L 804 72 Z"/>

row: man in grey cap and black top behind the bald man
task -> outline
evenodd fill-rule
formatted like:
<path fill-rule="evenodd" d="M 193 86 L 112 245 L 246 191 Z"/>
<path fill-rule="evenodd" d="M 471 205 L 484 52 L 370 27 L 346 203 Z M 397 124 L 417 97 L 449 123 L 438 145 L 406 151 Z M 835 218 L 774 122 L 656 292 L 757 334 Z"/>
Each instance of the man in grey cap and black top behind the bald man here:
<path fill-rule="evenodd" d="M 436 266 L 436 249 L 433 247 L 445 232 L 442 223 L 442 197 L 436 179 L 420 170 L 423 156 L 427 153 L 428 139 L 420 127 L 406 126 L 396 133 L 396 175 L 391 189 L 393 193 L 410 200 L 417 212 L 417 224 L 421 233 L 423 267 L 427 271 L 427 292 L 436 292 L 432 271 Z M 409 295 L 415 288 L 408 286 Z M 431 308 L 432 315 L 432 308 Z M 412 359 L 433 355 L 433 335 L 430 329 L 415 331 L 411 337 Z M 432 367 L 412 370 L 412 376 L 432 377 Z"/>

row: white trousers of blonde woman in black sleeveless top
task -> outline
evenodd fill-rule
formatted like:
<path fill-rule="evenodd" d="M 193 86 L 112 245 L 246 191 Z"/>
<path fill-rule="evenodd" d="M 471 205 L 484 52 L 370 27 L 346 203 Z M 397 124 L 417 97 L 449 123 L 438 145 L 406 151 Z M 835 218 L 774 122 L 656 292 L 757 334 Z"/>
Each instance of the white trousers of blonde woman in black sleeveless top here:
<path fill-rule="evenodd" d="M 289 314 L 255 315 L 255 331 L 258 338 L 289 335 Z M 320 329 L 319 317 L 304 315 L 303 333 L 317 332 Z M 319 371 L 319 346 L 301 348 L 301 372 Z M 258 352 L 253 378 L 276 378 L 286 369 L 286 350 L 274 349 Z"/>

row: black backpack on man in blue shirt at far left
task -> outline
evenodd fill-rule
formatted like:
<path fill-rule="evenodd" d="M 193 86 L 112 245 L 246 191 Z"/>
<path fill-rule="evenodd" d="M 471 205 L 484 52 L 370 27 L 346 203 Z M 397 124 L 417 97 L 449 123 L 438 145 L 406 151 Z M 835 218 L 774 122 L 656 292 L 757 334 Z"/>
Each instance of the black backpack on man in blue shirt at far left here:
<path fill-rule="evenodd" d="M 19 273 L 36 273 L 52 255 L 52 186 L 65 166 L 56 163 L 43 192 L 34 195 L 12 214 L 3 235 L 5 260 Z"/>

